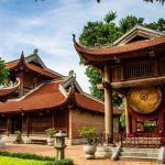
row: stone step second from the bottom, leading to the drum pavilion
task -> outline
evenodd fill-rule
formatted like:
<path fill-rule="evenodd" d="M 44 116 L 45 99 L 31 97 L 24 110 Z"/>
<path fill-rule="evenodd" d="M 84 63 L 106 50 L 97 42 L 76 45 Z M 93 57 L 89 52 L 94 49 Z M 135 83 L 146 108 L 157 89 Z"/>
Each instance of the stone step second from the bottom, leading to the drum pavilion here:
<path fill-rule="evenodd" d="M 121 152 L 121 156 L 142 156 L 142 157 L 158 157 L 158 153 L 151 153 L 151 152 Z"/>

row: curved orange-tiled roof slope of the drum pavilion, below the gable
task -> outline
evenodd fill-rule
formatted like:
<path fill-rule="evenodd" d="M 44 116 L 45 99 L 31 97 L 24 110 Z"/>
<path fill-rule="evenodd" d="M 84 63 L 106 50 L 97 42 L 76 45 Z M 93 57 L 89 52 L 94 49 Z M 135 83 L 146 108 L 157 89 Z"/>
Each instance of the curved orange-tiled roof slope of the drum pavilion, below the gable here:
<path fill-rule="evenodd" d="M 125 53 L 139 52 L 143 50 L 152 50 L 158 46 L 165 46 L 165 36 L 155 37 L 152 40 L 144 40 L 139 42 L 129 43 L 120 46 L 106 46 L 89 48 L 75 42 L 76 51 L 84 56 L 87 61 L 97 59 L 98 57 L 114 57 L 116 55 L 121 55 Z"/>

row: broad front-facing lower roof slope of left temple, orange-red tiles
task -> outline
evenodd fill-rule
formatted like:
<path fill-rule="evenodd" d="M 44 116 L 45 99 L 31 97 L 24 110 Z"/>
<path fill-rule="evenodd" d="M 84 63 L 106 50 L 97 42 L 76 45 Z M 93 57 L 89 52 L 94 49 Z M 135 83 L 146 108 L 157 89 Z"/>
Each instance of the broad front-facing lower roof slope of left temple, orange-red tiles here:
<path fill-rule="evenodd" d="M 46 82 L 22 100 L 0 103 L 0 112 L 42 110 L 58 107 L 67 101 L 58 90 L 58 85 L 59 82 Z"/>

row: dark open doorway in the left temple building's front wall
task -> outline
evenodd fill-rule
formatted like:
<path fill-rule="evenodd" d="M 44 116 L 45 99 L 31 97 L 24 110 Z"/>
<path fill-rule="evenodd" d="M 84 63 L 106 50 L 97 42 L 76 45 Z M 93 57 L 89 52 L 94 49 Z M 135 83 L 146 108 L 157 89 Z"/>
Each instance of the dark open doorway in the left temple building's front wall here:
<path fill-rule="evenodd" d="M 22 131 L 22 116 L 13 116 L 11 118 L 11 134 L 15 131 Z"/>

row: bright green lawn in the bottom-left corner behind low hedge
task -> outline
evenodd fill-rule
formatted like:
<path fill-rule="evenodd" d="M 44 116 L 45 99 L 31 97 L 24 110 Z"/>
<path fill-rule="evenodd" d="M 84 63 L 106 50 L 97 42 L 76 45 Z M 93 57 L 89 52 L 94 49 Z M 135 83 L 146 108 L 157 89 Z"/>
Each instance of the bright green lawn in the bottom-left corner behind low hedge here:
<path fill-rule="evenodd" d="M 45 165 L 51 161 L 34 161 L 16 157 L 0 156 L 0 165 Z"/>

